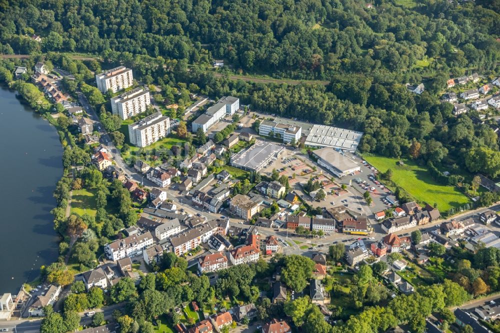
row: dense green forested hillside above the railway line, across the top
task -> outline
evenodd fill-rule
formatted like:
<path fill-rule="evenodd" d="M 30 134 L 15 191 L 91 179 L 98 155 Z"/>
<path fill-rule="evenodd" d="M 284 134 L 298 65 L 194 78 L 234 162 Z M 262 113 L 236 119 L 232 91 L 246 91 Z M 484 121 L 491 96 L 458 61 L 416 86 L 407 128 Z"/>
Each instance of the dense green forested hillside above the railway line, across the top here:
<path fill-rule="evenodd" d="M 391 71 L 408 80 L 426 57 L 435 58 L 432 68 L 456 74 L 498 66 L 500 14 L 491 9 L 444 0 L 411 9 L 384 0 L 373 4 L 10 0 L 0 4 L 0 37 L 4 53 L 112 49 L 190 63 L 207 62 L 211 54 L 234 68 L 304 79 Z M 33 32 L 46 37 L 41 45 L 21 37 Z"/>

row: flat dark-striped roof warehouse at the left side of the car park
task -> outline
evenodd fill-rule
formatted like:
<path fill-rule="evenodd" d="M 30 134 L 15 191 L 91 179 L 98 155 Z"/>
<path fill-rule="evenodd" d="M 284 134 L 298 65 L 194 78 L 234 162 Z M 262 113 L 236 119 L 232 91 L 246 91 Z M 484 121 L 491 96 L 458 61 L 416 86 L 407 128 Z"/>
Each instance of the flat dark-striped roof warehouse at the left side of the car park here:
<path fill-rule="evenodd" d="M 278 157 L 284 147 L 277 144 L 257 140 L 252 146 L 241 150 L 231 157 L 231 165 L 243 170 L 258 171 L 273 157 Z"/>

